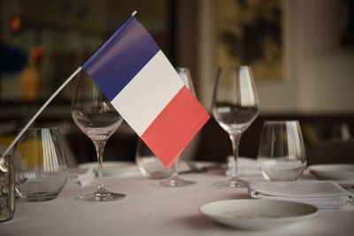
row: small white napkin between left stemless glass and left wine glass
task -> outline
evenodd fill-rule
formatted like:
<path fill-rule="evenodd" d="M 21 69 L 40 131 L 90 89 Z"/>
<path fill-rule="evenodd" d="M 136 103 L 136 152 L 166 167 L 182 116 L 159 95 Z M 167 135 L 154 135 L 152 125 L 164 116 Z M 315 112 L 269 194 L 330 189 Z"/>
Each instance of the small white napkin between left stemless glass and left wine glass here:
<path fill-rule="evenodd" d="M 96 179 L 92 168 L 70 168 L 67 186 L 87 187 Z"/>

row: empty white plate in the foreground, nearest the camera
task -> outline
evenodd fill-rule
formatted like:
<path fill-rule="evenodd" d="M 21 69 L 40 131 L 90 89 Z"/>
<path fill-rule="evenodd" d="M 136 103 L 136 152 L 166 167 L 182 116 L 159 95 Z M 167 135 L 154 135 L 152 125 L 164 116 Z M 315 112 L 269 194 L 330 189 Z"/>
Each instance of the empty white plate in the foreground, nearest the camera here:
<path fill-rule="evenodd" d="M 247 230 L 271 230 L 315 216 L 319 209 L 300 202 L 240 199 L 211 202 L 199 208 L 207 217 Z"/>

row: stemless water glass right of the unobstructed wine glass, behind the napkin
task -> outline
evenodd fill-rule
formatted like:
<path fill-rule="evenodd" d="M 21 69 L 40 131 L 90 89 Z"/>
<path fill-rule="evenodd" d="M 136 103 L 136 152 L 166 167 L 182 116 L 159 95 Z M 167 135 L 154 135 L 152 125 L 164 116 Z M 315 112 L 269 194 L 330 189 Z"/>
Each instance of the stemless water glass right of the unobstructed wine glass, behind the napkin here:
<path fill-rule="evenodd" d="M 297 179 L 306 166 L 303 135 L 298 121 L 265 122 L 258 149 L 258 166 L 267 180 Z"/>

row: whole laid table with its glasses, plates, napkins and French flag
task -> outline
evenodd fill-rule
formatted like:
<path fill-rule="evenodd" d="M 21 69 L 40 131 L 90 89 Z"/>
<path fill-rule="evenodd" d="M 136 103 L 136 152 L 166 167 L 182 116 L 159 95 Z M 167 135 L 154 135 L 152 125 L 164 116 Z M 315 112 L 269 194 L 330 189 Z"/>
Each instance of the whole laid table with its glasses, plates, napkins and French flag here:
<path fill-rule="evenodd" d="M 12 158 L 0 157 L 0 235 L 353 235 L 353 169 L 305 170 L 298 121 L 266 121 L 258 158 L 239 158 L 242 133 L 258 117 L 250 66 L 220 66 L 212 96 L 233 156 L 220 156 L 226 164 L 183 158 L 209 114 L 189 70 L 169 64 L 135 13 L 65 80 L 78 75 L 73 121 L 92 140 L 97 163 L 67 168 L 57 128 L 27 129 L 43 105 L 15 138 Z M 141 138 L 136 164 L 104 162 L 105 142 L 123 118 Z"/>

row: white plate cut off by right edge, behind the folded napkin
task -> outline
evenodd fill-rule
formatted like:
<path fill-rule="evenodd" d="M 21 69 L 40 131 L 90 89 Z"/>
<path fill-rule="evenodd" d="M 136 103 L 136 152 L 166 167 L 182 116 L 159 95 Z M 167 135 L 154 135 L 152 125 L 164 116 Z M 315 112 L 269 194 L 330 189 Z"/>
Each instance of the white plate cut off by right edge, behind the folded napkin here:
<path fill-rule="evenodd" d="M 318 179 L 334 180 L 338 183 L 354 181 L 354 164 L 315 164 L 308 167 Z"/>

